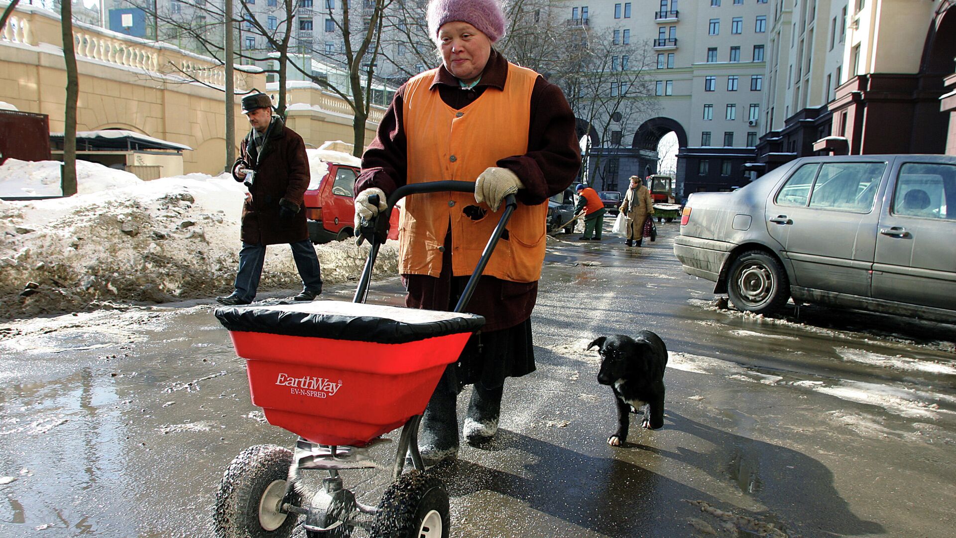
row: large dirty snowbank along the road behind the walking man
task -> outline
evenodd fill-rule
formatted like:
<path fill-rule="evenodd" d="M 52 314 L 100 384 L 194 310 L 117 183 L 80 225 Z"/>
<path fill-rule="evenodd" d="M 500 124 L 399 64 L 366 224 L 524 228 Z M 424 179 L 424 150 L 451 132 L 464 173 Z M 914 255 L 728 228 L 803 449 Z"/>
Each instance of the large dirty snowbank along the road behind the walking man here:
<path fill-rule="evenodd" d="M 78 178 L 79 191 L 86 194 L 0 201 L 0 317 L 211 299 L 231 291 L 246 191 L 241 183 L 228 174 L 192 173 L 124 186 L 116 179 L 118 170 L 86 165 L 93 168 L 84 167 Z M 47 165 L 19 166 L 37 177 Z M 323 280 L 359 276 L 367 246 L 354 245 L 316 246 Z M 386 244 L 378 259 L 377 273 L 396 273 L 393 245 Z M 300 284 L 289 247 L 270 248 L 260 290 Z"/>

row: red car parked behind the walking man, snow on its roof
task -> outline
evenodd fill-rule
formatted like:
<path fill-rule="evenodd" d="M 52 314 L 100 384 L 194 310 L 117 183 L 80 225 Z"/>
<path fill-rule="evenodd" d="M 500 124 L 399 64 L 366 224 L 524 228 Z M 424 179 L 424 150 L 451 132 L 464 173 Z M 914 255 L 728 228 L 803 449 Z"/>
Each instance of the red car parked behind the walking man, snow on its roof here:
<path fill-rule="evenodd" d="M 318 149 L 306 149 L 312 181 L 305 191 L 305 216 L 313 243 L 341 241 L 354 235 L 356 178 L 361 162 L 343 151 L 340 142 L 325 143 Z M 399 212 L 392 212 L 389 239 L 399 237 Z"/>

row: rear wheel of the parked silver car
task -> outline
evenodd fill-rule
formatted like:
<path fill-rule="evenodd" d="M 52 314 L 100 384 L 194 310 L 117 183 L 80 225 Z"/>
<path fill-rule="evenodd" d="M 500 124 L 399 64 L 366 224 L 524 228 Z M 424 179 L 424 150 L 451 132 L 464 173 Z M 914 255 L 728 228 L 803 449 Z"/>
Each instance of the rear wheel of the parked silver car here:
<path fill-rule="evenodd" d="M 787 303 L 790 282 L 776 258 L 749 251 L 730 264 L 727 291 L 730 303 L 738 310 L 769 314 Z"/>

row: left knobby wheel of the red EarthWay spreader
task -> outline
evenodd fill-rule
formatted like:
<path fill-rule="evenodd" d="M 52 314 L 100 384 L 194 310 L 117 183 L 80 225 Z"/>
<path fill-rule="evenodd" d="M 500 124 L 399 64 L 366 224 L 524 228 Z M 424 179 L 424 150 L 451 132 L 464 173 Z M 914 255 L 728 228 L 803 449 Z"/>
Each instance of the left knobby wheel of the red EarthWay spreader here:
<path fill-rule="evenodd" d="M 217 538 L 289 538 L 297 516 L 279 510 L 300 504 L 293 489 L 283 500 L 293 453 L 274 444 L 250 446 L 229 463 L 219 491 L 212 526 Z"/>

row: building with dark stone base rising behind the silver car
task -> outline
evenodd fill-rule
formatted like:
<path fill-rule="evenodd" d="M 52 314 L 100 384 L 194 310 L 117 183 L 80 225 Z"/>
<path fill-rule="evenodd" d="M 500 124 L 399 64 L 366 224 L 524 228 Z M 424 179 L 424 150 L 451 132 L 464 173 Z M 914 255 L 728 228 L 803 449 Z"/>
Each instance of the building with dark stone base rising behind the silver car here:
<path fill-rule="evenodd" d="M 750 165 L 830 153 L 956 154 L 953 0 L 773 0 Z"/>

